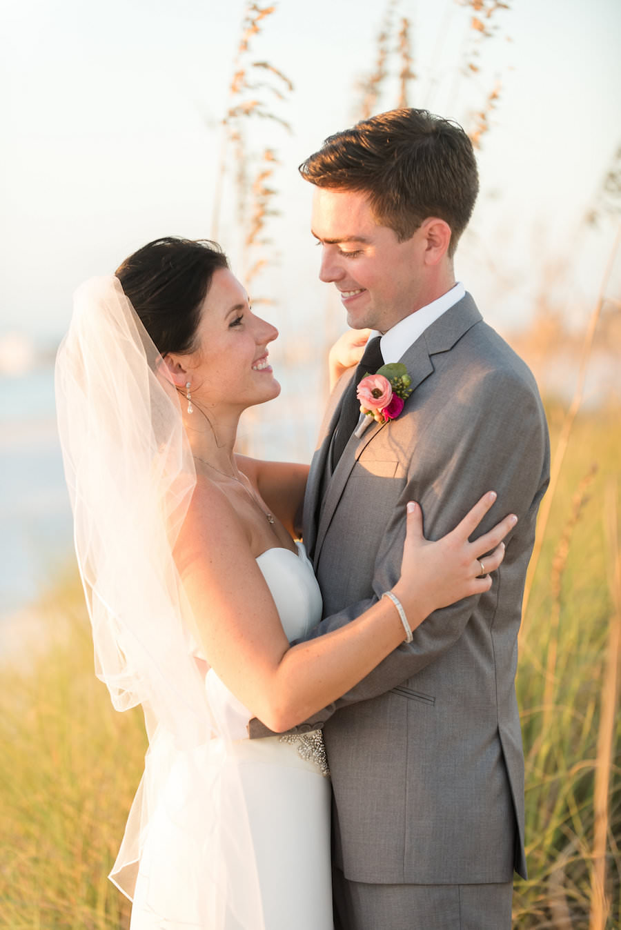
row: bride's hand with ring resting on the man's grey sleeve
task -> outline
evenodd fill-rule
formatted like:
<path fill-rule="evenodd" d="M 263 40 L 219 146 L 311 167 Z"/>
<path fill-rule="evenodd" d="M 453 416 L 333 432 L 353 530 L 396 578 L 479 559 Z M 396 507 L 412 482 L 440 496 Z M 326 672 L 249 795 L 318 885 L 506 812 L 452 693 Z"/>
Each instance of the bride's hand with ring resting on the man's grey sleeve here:
<path fill-rule="evenodd" d="M 416 625 L 439 607 L 455 604 L 464 597 L 482 594 L 491 588 L 489 573 L 505 557 L 505 544 L 501 540 L 516 525 L 518 518 L 511 513 L 474 542 L 469 542 L 469 537 L 495 498 L 495 492 L 488 491 L 452 532 L 436 542 L 430 542 L 423 536 L 420 506 L 408 504 L 402 575 L 393 591 L 402 602 L 408 618 L 412 616 Z M 485 555 L 486 552 L 491 554 Z"/>

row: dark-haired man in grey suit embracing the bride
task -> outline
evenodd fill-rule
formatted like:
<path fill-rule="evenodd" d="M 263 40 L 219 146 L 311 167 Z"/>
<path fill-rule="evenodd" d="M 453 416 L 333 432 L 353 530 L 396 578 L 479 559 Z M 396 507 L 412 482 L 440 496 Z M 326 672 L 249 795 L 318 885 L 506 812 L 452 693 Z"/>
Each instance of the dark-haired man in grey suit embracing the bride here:
<path fill-rule="evenodd" d="M 509 930 L 513 871 L 526 870 L 517 633 L 548 431 L 531 373 L 455 280 L 478 192 L 474 153 L 456 124 L 397 110 L 330 137 L 300 172 L 314 185 L 320 277 L 350 326 L 381 335 L 338 382 L 310 467 L 304 541 L 325 617 L 316 632 L 357 617 L 399 578 L 408 500 L 421 504 L 427 538 L 488 490 L 498 498 L 479 533 L 519 517 L 490 591 L 437 611 L 297 728 L 324 728 L 337 926 Z M 397 361 L 413 393 L 397 419 L 358 438 L 351 379 Z"/>

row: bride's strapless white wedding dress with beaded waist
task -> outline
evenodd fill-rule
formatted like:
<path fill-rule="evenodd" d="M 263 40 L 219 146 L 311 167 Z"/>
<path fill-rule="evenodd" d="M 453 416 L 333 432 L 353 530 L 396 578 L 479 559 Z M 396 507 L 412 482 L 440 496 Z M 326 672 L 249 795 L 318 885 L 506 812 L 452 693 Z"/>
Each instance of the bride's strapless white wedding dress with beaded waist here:
<path fill-rule="evenodd" d="M 312 565 L 297 547 L 297 555 L 270 549 L 257 559 L 289 641 L 322 613 Z M 164 752 L 169 774 L 141 844 L 131 930 L 332 930 L 331 790 L 321 737 L 250 740 L 250 712 L 211 670 L 205 687 L 229 738 L 190 752 L 152 740 L 147 765 L 157 772 Z M 205 818 L 208 838 L 201 835 L 205 799 L 218 804 L 220 817 L 216 828 Z M 208 876 L 197 874 L 205 861 L 198 871 Z"/>

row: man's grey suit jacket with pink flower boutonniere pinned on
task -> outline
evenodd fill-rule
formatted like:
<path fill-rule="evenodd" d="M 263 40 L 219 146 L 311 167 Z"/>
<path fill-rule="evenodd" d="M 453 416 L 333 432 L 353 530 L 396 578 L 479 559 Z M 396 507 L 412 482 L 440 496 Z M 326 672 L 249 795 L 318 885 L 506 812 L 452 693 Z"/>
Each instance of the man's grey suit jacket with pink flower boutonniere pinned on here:
<path fill-rule="evenodd" d="M 491 489 L 498 499 L 478 532 L 509 512 L 520 519 L 490 591 L 436 611 L 413 643 L 297 729 L 324 728 L 335 860 L 348 878 L 507 882 L 514 869 L 525 875 L 514 678 L 548 485 L 546 419 L 530 371 L 469 295 L 401 361 L 415 389 L 403 414 L 352 436 L 334 474 L 328 450 L 344 383 L 328 407 L 304 509 L 324 595 L 314 634 L 348 623 L 399 578 L 408 500 L 421 504 L 427 538 L 451 530 Z"/>

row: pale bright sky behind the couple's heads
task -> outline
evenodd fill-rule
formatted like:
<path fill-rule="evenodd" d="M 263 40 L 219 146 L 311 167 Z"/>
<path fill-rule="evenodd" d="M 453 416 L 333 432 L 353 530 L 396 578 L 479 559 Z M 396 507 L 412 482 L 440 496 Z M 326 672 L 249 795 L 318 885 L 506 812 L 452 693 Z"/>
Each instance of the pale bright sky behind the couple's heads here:
<path fill-rule="evenodd" d="M 80 281 L 113 271 L 156 236 L 211 234 L 244 6 L 2 0 L 0 339 L 14 332 L 58 339 Z M 612 232 L 605 224 L 595 235 L 580 232 L 580 221 L 621 143 L 621 4 L 509 0 L 509 7 L 490 20 L 497 33 L 480 41 L 477 59 L 472 43 L 481 37 L 468 29 L 465 4 L 396 4 L 412 22 L 412 105 L 468 127 L 500 82 L 479 153 L 482 193 L 456 273 L 501 329 L 527 323 L 544 266 L 569 254 L 575 278 L 567 312 L 582 312 Z M 297 164 L 358 118 L 355 84 L 373 68 L 385 8 L 377 0 L 280 0 L 253 41 L 253 58 L 295 86 L 273 103 L 291 134 L 246 121 L 251 145 L 267 142 L 282 163 L 281 215 L 270 228 L 279 264 L 261 286 L 278 300 L 275 322 L 285 330 L 312 326 L 318 316 L 325 325 L 333 311 L 330 325 L 343 325 L 316 278 L 310 188 Z M 464 77 L 464 60 L 480 70 Z M 379 102 L 390 109 L 396 100 L 388 93 Z M 231 153 L 227 166 L 231 172 Z M 240 235 L 229 195 L 218 236 L 233 259 Z"/>

